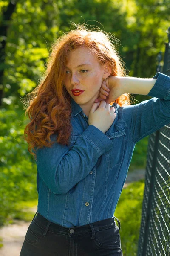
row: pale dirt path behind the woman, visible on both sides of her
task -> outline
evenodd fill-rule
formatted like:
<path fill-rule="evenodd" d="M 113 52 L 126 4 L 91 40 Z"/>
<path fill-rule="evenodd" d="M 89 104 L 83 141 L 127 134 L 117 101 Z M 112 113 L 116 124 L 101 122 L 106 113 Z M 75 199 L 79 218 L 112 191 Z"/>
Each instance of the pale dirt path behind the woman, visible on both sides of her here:
<path fill-rule="evenodd" d="M 139 169 L 127 174 L 124 188 L 133 181 L 144 179 L 145 170 Z M 29 209 L 36 213 L 37 207 Z M 14 221 L 14 224 L 4 226 L 0 229 L 0 237 L 3 238 L 3 247 L 0 248 L 0 256 L 19 256 L 26 232 L 30 222 Z"/>

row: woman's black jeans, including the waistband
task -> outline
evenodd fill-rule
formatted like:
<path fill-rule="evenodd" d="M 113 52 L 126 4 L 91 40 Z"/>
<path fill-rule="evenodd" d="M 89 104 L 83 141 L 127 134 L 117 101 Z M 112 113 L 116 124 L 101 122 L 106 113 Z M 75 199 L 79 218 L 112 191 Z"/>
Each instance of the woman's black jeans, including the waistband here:
<path fill-rule="evenodd" d="M 115 216 L 84 226 L 67 228 L 48 221 L 37 212 L 36 214 L 28 227 L 20 256 L 123 255 L 119 234 L 120 221 Z"/>

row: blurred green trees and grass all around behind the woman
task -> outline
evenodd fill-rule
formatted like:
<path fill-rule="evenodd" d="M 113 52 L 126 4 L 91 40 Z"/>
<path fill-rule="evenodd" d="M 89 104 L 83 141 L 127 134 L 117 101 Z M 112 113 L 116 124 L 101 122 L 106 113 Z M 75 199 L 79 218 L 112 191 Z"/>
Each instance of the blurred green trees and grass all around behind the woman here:
<path fill-rule="evenodd" d="M 37 86 L 51 43 L 73 23 L 113 34 L 127 75 L 151 78 L 164 57 L 169 0 L 0 0 L 0 226 L 31 221 L 37 207 L 34 158 L 23 132 L 29 122 L 21 99 Z M 161 65 L 161 63 L 160 63 Z M 132 104 L 150 99 L 131 95 Z M 134 149 L 129 173 L 145 169 L 148 137 Z M 137 255 L 144 179 L 122 191 L 115 216 L 125 256 Z M 3 239 L 0 246 L 3 247 Z"/>

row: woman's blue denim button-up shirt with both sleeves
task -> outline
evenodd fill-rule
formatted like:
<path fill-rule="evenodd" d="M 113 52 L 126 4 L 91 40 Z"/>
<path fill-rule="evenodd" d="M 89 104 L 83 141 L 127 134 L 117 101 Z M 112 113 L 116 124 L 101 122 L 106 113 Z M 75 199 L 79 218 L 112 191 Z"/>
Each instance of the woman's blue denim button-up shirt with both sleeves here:
<path fill-rule="evenodd" d="M 104 134 L 71 98 L 70 145 L 57 142 L 37 154 L 38 212 L 64 227 L 111 218 L 127 177 L 136 142 L 170 123 L 170 77 L 157 73 L 152 96 L 120 107 Z M 56 140 L 52 135 L 51 140 Z"/>

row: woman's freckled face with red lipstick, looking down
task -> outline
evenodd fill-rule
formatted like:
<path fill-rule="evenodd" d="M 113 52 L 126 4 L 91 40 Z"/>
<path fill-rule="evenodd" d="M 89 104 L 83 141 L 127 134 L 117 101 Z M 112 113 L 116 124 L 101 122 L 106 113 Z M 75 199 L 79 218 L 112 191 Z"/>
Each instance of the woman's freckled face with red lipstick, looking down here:
<path fill-rule="evenodd" d="M 65 88 L 80 106 L 93 105 L 99 96 L 102 81 L 105 78 L 104 66 L 87 47 L 72 50 L 66 64 Z M 76 96 L 71 90 L 83 90 Z"/>

